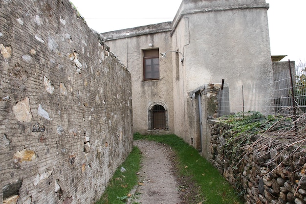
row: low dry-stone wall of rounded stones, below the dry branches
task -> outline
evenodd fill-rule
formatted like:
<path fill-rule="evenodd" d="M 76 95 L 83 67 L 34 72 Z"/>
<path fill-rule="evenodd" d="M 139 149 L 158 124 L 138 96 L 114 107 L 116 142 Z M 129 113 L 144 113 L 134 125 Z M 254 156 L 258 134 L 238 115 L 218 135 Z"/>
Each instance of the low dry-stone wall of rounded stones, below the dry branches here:
<path fill-rule="evenodd" d="M 211 162 L 237 188 L 246 204 L 306 203 L 306 158 L 294 153 L 296 147 L 282 152 L 271 145 L 274 150 L 270 151 L 262 144 L 245 151 L 239 143 L 230 142 L 230 134 L 224 134 L 229 126 L 211 120 L 210 129 Z M 254 142 L 259 137 L 264 135 L 249 139 Z"/>

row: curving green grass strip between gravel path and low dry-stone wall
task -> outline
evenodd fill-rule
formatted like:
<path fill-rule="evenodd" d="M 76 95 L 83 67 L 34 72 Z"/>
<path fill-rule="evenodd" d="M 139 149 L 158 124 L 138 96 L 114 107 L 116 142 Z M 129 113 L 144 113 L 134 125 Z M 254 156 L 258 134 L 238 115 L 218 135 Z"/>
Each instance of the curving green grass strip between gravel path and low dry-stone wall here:
<path fill-rule="evenodd" d="M 219 171 L 197 150 L 175 135 L 143 136 L 134 134 L 134 140 L 147 139 L 171 146 L 178 156 L 178 169 L 182 177 L 191 177 L 200 186 L 205 197 L 202 204 L 242 204 L 238 192 L 219 174 Z"/>

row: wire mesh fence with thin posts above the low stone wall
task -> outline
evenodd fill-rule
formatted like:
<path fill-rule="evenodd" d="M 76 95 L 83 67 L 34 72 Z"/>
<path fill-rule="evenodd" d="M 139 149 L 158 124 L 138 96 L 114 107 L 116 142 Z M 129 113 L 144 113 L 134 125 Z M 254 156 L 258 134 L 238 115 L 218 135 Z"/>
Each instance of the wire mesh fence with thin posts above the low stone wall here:
<path fill-rule="evenodd" d="M 306 113 L 306 63 L 287 65 L 283 69 L 274 68 L 271 83 L 248 83 L 219 91 L 219 116 L 250 112 L 296 116 Z"/>

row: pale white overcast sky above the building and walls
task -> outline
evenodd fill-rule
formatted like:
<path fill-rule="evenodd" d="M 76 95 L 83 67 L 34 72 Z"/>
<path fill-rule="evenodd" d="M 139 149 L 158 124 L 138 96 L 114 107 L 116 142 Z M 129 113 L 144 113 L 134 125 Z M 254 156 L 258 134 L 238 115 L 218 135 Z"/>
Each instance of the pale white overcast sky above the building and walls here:
<path fill-rule="evenodd" d="M 99 33 L 172 21 L 181 0 L 70 0 Z M 266 0 L 271 55 L 306 62 L 306 0 Z"/>

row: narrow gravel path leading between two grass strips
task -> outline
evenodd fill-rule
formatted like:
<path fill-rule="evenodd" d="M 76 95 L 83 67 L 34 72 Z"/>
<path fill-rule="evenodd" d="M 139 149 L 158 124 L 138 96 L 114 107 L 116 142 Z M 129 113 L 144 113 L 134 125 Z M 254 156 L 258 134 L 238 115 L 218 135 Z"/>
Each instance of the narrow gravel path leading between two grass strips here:
<path fill-rule="evenodd" d="M 147 140 L 134 141 L 143 160 L 139 183 L 131 204 L 180 204 L 178 186 L 173 172 L 171 147 Z"/>

